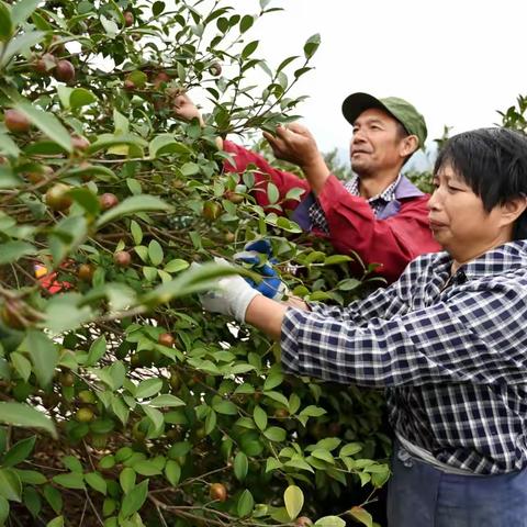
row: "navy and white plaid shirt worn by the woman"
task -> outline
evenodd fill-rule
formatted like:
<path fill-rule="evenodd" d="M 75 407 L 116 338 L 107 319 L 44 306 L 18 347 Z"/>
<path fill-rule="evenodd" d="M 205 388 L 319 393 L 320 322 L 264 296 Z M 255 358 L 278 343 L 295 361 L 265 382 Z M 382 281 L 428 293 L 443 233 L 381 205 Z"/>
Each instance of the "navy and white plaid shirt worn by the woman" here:
<path fill-rule="evenodd" d="M 397 434 L 479 474 L 527 467 L 527 240 L 450 276 L 446 253 L 347 307 L 289 309 L 284 369 L 386 388 Z"/>

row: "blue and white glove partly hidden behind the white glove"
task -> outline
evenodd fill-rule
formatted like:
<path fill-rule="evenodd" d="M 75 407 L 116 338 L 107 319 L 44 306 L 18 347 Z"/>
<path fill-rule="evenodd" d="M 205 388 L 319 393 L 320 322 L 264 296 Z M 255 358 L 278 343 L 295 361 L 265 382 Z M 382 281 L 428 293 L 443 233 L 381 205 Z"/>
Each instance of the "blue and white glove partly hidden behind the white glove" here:
<path fill-rule="evenodd" d="M 280 280 L 278 272 L 272 267 L 277 259 L 272 258 L 272 247 L 269 240 L 261 238 L 249 242 L 242 253 L 234 255 L 234 261 L 262 276 L 259 283 L 247 277 L 245 280 L 264 296 L 280 301 L 290 294 L 288 287 Z"/>

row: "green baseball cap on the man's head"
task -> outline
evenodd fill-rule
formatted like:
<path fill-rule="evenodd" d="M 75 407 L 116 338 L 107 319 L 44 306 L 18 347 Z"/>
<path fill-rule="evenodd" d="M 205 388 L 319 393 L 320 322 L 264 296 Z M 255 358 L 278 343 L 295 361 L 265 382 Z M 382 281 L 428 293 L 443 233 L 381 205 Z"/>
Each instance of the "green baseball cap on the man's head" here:
<path fill-rule="evenodd" d="M 399 97 L 377 99 L 369 93 L 351 93 L 343 102 L 343 114 L 350 124 L 354 124 L 357 117 L 370 108 L 378 108 L 392 115 L 408 134 L 417 136 L 419 147 L 424 147 L 427 134 L 425 117 L 404 99 Z"/>

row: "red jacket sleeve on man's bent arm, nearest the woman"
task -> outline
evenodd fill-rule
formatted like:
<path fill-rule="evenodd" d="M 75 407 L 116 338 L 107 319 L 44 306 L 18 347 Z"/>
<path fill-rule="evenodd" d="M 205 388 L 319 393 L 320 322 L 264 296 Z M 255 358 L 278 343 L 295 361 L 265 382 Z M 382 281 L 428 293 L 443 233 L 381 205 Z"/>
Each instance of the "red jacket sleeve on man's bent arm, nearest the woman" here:
<path fill-rule="evenodd" d="M 399 213 L 386 220 L 378 220 L 368 202 L 351 195 L 333 175 L 317 199 L 335 249 L 355 250 L 366 264 L 381 264 L 378 272 L 389 282 L 417 256 L 441 250 L 428 225 L 427 194 L 401 200 Z"/>

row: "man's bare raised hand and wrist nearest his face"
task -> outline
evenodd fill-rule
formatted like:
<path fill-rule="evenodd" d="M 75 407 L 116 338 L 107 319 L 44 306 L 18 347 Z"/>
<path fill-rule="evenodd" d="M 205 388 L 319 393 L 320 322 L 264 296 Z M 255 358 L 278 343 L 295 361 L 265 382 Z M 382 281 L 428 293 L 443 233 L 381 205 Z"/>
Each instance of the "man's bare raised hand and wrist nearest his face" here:
<path fill-rule="evenodd" d="M 304 171 L 305 179 L 315 193 L 322 190 L 330 172 L 315 138 L 305 126 L 299 123 L 277 126 L 276 136 L 264 132 L 264 137 L 278 159 L 293 162 Z"/>

